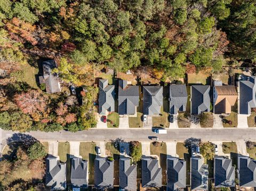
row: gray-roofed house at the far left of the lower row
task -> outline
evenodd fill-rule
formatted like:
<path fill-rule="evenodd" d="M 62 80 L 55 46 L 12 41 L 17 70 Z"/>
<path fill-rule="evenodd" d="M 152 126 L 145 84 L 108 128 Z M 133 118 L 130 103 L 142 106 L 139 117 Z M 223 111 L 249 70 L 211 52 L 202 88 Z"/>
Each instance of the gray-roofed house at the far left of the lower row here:
<path fill-rule="evenodd" d="M 60 163 L 55 156 L 46 158 L 45 185 L 52 190 L 66 189 L 66 163 Z"/>

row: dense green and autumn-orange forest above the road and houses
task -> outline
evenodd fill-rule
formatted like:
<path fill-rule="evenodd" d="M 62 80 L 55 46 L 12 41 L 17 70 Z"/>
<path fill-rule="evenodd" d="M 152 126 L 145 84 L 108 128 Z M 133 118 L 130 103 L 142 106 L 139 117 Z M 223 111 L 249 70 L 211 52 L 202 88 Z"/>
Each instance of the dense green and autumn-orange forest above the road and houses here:
<path fill-rule="evenodd" d="M 151 69 L 165 82 L 223 66 L 255 66 L 255 0 L 1 0 L 0 124 L 3 129 L 95 127 L 93 88 L 102 68 Z M 54 59 L 63 82 L 87 87 L 85 104 L 48 95 L 20 78 Z"/>

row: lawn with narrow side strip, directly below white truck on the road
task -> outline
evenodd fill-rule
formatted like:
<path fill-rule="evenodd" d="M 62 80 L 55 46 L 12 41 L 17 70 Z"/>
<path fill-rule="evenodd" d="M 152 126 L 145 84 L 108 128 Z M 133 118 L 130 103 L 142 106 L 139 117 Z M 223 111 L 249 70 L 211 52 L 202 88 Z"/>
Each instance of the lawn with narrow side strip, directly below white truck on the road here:
<path fill-rule="evenodd" d="M 162 167 L 162 184 L 166 185 L 166 143 L 161 143 L 159 146 L 154 146 L 150 143 L 150 154 L 157 155 L 160 160 L 160 165 Z"/>

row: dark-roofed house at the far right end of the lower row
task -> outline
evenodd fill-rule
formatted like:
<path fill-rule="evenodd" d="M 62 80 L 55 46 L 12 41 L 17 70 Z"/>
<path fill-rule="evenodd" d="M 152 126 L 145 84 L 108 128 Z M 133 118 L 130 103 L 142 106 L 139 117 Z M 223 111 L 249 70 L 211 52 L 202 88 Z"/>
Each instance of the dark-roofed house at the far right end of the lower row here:
<path fill-rule="evenodd" d="M 256 187 L 256 160 L 248 156 L 238 155 L 237 177 L 239 186 Z"/>

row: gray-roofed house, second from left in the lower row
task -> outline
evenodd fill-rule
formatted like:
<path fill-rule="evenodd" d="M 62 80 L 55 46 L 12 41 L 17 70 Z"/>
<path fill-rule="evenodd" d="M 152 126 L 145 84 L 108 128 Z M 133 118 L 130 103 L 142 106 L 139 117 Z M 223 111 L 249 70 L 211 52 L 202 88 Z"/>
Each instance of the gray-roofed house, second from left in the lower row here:
<path fill-rule="evenodd" d="M 78 157 L 71 159 L 70 181 L 72 188 L 88 187 L 88 161 Z"/>

